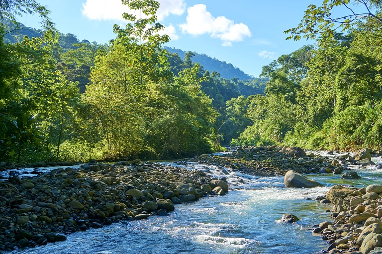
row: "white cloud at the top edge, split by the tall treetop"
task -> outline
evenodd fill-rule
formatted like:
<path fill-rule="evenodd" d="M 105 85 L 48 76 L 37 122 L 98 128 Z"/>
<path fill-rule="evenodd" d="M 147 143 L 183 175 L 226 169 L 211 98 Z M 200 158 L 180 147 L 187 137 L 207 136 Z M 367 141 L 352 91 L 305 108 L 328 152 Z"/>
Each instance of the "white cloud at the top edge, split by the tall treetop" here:
<path fill-rule="evenodd" d="M 159 21 L 169 15 L 182 15 L 186 9 L 185 0 L 158 0 L 160 7 L 157 11 Z M 82 14 L 89 19 L 124 21 L 123 12 L 134 12 L 122 4 L 121 0 L 86 0 L 82 4 Z"/>

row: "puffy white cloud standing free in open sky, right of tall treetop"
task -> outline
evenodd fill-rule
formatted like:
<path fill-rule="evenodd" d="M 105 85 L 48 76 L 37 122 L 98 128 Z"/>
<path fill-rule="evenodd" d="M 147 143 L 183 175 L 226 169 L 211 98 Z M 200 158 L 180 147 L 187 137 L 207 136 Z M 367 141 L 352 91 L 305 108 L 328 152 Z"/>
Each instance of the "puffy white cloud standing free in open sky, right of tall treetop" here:
<path fill-rule="evenodd" d="M 223 46 L 232 46 L 232 42 L 251 37 L 251 31 L 247 25 L 235 24 L 233 20 L 224 16 L 215 18 L 207 11 L 205 4 L 195 4 L 189 7 L 187 12 L 186 23 L 180 25 L 183 33 L 194 36 L 209 34 L 213 38 L 222 40 Z"/>

